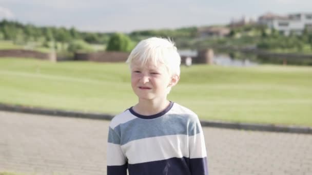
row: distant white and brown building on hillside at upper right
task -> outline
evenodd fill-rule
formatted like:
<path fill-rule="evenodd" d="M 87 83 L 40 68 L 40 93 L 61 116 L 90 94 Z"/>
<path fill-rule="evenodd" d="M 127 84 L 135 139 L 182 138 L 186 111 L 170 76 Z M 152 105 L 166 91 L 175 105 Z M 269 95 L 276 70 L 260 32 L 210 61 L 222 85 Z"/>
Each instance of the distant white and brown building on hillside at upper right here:
<path fill-rule="evenodd" d="M 302 34 L 305 27 L 312 28 L 312 13 L 295 13 L 280 16 L 266 13 L 259 17 L 258 23 L 276 29 L 284 35 Z"/>

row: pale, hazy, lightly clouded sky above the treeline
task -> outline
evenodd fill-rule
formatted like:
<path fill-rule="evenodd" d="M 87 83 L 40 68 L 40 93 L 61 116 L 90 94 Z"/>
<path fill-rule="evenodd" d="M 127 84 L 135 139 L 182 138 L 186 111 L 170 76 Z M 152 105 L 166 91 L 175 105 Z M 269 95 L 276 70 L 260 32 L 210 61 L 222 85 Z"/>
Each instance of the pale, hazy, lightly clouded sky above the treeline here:
<path fill-rule="evenodd" d="M 267 12 L 312 13 L 312 0 L 0 0 L 0 20 L 92 32 L 225 25 Z"/>

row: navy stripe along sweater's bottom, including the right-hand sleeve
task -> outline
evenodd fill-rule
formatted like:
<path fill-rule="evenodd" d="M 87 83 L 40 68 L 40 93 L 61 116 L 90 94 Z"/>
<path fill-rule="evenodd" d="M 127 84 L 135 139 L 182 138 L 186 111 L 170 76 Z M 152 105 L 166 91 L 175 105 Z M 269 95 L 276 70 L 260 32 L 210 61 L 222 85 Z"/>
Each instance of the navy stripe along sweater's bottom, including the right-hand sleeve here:
<path fill-rule="evenodd" d="M 207 175 L 206 162 L 206 158 L 171 158 L 161 161 L 128 164 L 128 171 L 129 175 Z"/>

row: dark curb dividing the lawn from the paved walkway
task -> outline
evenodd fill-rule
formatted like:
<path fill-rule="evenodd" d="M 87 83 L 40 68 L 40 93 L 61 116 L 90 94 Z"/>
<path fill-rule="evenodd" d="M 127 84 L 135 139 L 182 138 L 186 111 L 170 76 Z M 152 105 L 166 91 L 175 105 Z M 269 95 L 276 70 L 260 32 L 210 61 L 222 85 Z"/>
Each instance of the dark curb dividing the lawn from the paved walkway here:
<path fill-rule="evenodd" d="M 97 120 L 111 120 L 114 115 L 103 113 L 82 113 L 74 111 L 63 111 L 55 109 L 47 109 L 41 107 L 27 107 L 23 105 L 9 105 L 0 103 L 0 111 L 27 113 L 27 114 L 40 114 L 50 115 L 56 117 L 73 117 L 73 118 L 87 118 Z M 253 123 L 237 123 L 237 122 L 221 122 L 221 121 L 200 121 L 202 126 L 218 127 L 226 129 L 242 129 L 242 130 L 255 130 L 262 132 L 282 132 L 294 134 L 312 134 L 312 127 L 305 126 L 286 126 L 275 124 L 253 124 Z"/>

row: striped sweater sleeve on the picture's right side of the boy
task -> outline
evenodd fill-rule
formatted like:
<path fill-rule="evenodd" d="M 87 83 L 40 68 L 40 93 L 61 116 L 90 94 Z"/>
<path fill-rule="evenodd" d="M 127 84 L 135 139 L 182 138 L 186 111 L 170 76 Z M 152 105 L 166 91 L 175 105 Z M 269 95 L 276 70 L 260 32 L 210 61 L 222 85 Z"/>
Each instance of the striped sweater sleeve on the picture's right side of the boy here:
<path fill-rule="evenodd" d="M 208 175 L 207 153 L 203 129 L 199 119 L 189 130 L 189 168 L 192 175 Z"/>

